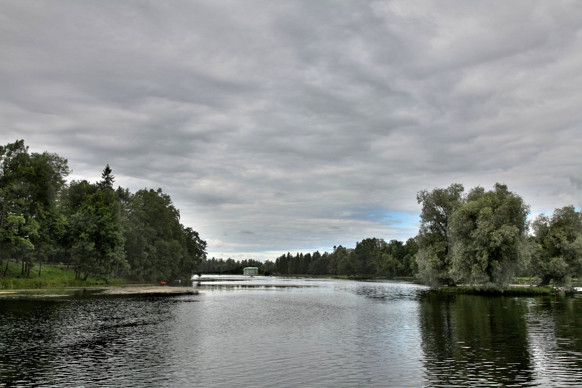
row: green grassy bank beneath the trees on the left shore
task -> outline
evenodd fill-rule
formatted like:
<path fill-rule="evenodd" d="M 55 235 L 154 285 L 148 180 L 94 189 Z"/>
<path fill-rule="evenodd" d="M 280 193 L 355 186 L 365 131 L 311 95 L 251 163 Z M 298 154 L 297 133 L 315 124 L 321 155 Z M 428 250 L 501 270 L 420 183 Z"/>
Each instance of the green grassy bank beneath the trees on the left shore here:
<path fill-rule="evenodd" d="M 4 264 L 5 265 L 5 264 Z M 4 266 L 2 272 L 4 273 Z M 20 264 L 10 263 L 6 276 L 0 277 L 0 289 L 44 289 L 50 287 L 87 287 L 100 284 L 125 284 L 124 279 L 99 279 L 89 277 L 87 280 L 75 279 L 74 271 L 63 265 L 43 264 L 41 276 L 38 276 L 38 264 L 32 268 L 30 277 L 21 277 Z"/>

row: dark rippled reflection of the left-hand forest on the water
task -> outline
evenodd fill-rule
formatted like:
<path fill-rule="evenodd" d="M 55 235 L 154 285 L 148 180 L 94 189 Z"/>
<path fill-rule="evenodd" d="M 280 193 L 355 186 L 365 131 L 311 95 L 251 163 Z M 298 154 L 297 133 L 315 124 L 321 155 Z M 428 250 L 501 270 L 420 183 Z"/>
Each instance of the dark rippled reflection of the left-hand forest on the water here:
<path fill-rule="evenodd" d="M 168 369 L 164 339 L 175 318 L 173 301 L 176 297 L 4 300 L 0 386 L 105 381 L 129 386 L 144 379 L 155 385 Z"/>

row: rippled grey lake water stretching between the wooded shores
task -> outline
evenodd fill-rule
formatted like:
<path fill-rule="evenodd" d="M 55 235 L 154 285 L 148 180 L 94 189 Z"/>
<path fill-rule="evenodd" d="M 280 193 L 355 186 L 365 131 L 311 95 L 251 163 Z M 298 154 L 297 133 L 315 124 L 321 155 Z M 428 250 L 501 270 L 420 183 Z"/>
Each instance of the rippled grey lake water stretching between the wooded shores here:
<path fill-rule="evenodd" d="M 581 387 L 582 297 L 201 279 L 0 298 L 0 387 Z"/>

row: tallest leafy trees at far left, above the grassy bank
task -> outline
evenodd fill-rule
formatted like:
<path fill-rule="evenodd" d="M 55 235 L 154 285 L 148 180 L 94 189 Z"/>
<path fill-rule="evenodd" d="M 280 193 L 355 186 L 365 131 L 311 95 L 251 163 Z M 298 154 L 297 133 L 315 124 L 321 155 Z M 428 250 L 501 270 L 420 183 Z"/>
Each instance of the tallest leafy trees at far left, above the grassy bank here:
<path fill-rule="evenodd" d="M 24 140 L 0 146 L 0 259 L 22 262 L 30 276 L 36 259 L 42 262 L 63 232 L 56 200 L 65 176 L 66 159 L 44 152 L 29 154 Z M 0 261 L 1 262 L 1 261 Z"/>

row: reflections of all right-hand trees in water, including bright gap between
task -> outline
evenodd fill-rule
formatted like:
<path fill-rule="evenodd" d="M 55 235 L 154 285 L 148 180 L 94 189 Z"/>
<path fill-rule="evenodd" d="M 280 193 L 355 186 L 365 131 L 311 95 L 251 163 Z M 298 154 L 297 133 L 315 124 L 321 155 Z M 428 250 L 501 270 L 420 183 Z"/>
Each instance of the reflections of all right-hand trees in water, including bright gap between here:
<path fill-rule="evenodd" d="M 419 319 L 435 387 L 580 386 L 580 298 L 427 294 Z"/>

